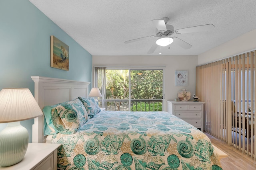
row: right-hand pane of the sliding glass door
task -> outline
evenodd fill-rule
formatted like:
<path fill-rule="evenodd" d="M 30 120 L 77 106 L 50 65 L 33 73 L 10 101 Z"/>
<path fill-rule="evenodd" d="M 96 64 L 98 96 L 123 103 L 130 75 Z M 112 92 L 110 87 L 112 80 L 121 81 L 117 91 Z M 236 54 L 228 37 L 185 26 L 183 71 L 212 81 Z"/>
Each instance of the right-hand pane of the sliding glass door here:
<path fill-rule="evenodd" d="M 162 111 L 163 70 L 130 70 L 130 110 Z"/>

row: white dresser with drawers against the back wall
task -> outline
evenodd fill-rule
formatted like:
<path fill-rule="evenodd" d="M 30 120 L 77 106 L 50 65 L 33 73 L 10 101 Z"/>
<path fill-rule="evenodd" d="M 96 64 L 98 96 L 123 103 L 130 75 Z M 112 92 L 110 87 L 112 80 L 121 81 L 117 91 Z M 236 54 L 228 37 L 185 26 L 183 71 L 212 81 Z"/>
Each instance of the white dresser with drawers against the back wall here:
<path fill-rule="evenodd" d="M 204 102 L 167 100 L 167 111 L 204 131 Z"/>

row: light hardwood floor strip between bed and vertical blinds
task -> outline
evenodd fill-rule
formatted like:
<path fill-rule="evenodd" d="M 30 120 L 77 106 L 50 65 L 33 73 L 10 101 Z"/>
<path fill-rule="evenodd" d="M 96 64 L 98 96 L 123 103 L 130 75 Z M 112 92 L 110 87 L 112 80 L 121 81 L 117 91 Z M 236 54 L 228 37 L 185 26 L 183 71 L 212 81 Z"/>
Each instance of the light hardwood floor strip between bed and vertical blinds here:
<path fill-rule="evenodd" d="M 242 153 L 238 149 L 234 149 L 232 146 L 228 146 L 224 141 L 208 133 L 205 134 L 209 137 L 213 145 L 228 154 L 226 158 L 220 160 L 223 170 L 256 170 L 256 161 L 250 156 Z"/>

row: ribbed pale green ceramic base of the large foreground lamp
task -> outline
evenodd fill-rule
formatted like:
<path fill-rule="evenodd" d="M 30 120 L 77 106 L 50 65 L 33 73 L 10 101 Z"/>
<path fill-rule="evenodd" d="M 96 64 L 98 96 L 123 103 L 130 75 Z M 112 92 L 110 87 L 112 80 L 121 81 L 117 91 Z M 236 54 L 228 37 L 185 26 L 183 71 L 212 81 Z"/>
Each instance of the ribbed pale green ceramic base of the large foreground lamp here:
<path fill-rule="evenodd" d="M 8 123 L 0 132 L 0 166 L 20 162 L 28 149 L 28 130 L 20 122 Z"/>

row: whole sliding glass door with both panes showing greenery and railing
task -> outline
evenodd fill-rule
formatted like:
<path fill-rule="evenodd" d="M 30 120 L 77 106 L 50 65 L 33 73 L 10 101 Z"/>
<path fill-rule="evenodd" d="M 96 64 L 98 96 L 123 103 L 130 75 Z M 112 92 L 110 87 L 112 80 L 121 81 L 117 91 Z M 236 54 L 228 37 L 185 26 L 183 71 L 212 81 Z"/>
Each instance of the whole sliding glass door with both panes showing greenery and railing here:
<path fill-rule="evenodd" d="M 162 111 L 163 69 L 106 68 L 106 110 Z"/>

